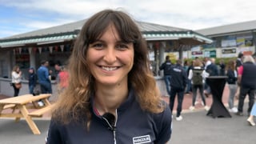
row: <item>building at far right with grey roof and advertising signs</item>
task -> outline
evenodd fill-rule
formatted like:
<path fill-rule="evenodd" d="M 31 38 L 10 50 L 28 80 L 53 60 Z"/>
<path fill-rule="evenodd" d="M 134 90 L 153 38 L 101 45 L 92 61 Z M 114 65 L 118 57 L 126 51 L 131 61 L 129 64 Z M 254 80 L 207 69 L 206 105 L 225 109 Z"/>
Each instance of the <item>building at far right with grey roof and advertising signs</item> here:
<path fill-rule="evenodd" d="M 238 53 L 254 54 L 256 43 L 256 21 L 239 22 L 226 26 L 216 26 L 198 33 L 206 35 L 214 42 L 192 48 L 192 55 L 211 58 L 232 58 Z"/>

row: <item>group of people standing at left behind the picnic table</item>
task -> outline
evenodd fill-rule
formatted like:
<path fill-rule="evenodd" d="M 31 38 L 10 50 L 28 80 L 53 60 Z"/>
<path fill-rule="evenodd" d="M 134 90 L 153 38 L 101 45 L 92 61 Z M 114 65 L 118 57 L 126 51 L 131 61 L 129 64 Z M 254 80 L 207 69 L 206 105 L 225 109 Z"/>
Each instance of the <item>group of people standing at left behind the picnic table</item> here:
<path fill-rule="evenodd" d="M 10 86 L 14 88 L 14 97 L 17 97 L 20 89 L 22 88 L 22 71 L 19 66 L 14 66 L 11 73 Z M 49 69 L 49 62 L 47 60 L 41 61 L 41 66 L 38 70 L 30 67 L 28 70 L 28 90 L 30 94 L 52 94 L 52 78 L 56 79 L 58 83 L 58 92 L 64 90 L 67 86 L 68 74 L 64 66 L 60 66 L 58 62 L 54 64 L 54 70 Z M 44 103 L 39 101 L 39 106 L 44 106 Z"/>

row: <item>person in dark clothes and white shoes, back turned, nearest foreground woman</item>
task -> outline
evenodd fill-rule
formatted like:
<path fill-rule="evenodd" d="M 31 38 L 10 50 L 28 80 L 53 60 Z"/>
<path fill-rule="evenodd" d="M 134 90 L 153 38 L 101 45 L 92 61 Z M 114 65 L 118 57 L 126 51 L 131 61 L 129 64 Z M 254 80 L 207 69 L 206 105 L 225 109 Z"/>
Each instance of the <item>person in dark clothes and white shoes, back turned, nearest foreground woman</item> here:
<path fill-rule="evenodd" d="M 177 60 L 177 64 L 172 66 L 170 69 L 171 81 L 170 81 L 170 110 L 174 109 L 174 100 L 176 94 L 178 94 L 178 106 L 177 106 L 177 114 L 176 120 L 182 120 L 182 102 L 184 97 L 184 90 L 187 83 L 187 75 L 186 70 L 182 67 L 182 61 Z"/>

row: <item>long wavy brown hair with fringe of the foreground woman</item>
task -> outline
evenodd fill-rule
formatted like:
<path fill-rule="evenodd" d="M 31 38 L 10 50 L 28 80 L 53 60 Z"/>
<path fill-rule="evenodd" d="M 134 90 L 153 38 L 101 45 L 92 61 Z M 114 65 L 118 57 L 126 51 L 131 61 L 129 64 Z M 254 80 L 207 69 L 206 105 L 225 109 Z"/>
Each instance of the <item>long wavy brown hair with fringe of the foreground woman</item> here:
<path fill-rule="evenodd" d="M 90 126 L 90 97 L 94 95 L 94 77 L 86 62 L 86 53 L 90 43 L 104 34 L 113 24 L 122 41 L 134 43 L 134 66 L 128 74 L 128 82 L 136 93 L 136 99 L 142 110 L 159 113 L 163 110 L 160 92 L 150 70 L 148 50 L 142 33 L 130 16 L 118 10 L 102 10 L 89 18 L 74 43 L 69 59 L 69 85 L 56 102 L 52 118 L 68 123 L 78 121 L 86 114 L 85 124 Z"/>

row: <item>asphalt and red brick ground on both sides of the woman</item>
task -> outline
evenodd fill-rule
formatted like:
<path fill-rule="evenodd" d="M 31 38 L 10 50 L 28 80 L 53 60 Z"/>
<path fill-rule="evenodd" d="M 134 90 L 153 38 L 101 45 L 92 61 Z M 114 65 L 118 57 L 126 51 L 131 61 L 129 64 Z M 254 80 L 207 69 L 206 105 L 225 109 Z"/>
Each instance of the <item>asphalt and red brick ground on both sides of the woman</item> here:
<path fill-rule="evenodd" d="M 5 98 L 4 96 L 0 96 Z M 188 110 L 191 105 L 191 95 L 186 95 L 183 103 L 183 120 L 173 122 L 173 134 L 171 144 L 252 144 L 256 142 L 256 126 L 249 126 L 246 116 L 232 118 L 212 118 L 206 116 L 206 111 L 201 105 L 197 110 Z M 228 89 L 223 93 L 223 102 L 227 102 Z M 164 97 L 168 102 L 168 98 Z M 210 106 L 211 98 L 207 98 L 207 105 Z M 245 104 L 245 109 L 248 104 Z M 24 120 L 14 122 L 14 119 L 0 119 L 0 143 L 1 144 L 23 144 L 23 143 L 44 143 L 49 126 L 49 116 L 38 118 L 35 123 L 42 134 L 34 135 Z"/>

